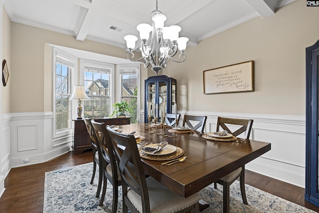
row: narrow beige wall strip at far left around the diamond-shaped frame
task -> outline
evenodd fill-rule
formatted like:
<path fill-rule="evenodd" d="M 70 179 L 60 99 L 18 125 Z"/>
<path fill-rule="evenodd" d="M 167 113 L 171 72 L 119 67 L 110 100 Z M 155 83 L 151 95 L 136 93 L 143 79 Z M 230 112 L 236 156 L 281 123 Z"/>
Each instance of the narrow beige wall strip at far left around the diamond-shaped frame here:
<path fill-rule="evenodd" d="M 10 44 L 11 44 L 11 21 L 6 13 L 4 7 L 2 6 L 2 60 L 6 60 L 7 67 L 9 70 L 9 78 L 7 85 L 3 87 L 2 81 L 2 97 L 1 97 L 1 104 L 2 104 L 2 113 L 9 113 L 10 112 L 10 87 L 11 84 L 11 51 L 10 51 Z"/>

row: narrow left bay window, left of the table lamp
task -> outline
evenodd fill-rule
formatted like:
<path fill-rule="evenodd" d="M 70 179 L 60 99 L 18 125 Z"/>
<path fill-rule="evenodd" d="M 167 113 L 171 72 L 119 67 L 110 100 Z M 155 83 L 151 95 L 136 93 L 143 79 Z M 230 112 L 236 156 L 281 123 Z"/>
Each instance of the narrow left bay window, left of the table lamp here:
<path fill-rule="evenodd" d="M 54 49 L 54 95 L 53 116 L 54 135 L 69 131 L 71 128 L 71 76 L 74 73 L 75 59 L 68 54 Z"/>

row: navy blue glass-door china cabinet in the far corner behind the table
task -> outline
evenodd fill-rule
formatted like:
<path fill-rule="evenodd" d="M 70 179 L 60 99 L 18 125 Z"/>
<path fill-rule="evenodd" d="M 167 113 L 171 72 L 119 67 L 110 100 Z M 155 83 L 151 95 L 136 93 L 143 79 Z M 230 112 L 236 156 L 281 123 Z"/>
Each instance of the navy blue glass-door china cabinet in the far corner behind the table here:
<path fill-rule="evenodd" d="M 174 104 L 176 103 L 176 79 L 169 78 L 165 75 L 151 76 L 145 80 L 145 123 L 148 123 L 147 103 L 152 102 L 157 108 L 157 115 L 160 120 L 160 107 L 164 113 L 175 112 Z M 151 110 L 150 110 L 151 111 Z M 155 112 L 151 111 L 151 118 L 154 120 Z"/>

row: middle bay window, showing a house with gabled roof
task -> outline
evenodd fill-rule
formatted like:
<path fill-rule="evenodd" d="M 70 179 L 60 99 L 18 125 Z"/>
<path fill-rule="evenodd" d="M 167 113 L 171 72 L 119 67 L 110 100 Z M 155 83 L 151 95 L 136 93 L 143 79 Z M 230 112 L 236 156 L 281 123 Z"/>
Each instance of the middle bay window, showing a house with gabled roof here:
<path fill-rule="evenodd" d="M 85 117 L 109 117 L 113 64 L 82 60 L 84 88 L 90 100 L 84 102 Z"/>

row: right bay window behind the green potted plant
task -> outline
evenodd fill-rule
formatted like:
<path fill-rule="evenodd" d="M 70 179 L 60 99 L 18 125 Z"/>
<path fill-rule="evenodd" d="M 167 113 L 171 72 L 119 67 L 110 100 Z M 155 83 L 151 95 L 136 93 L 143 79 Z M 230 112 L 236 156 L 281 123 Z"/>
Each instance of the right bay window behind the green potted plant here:
<path fill-rule="evenodd" d="M 126 101 L 131 108 L 131 123 L 138 123 L 139 107 L 139 67 L 120 66 L 118 67 L 120 80 L 120 98 Z"/>

